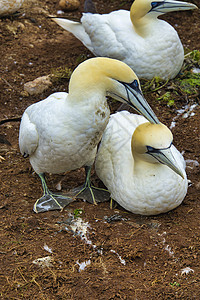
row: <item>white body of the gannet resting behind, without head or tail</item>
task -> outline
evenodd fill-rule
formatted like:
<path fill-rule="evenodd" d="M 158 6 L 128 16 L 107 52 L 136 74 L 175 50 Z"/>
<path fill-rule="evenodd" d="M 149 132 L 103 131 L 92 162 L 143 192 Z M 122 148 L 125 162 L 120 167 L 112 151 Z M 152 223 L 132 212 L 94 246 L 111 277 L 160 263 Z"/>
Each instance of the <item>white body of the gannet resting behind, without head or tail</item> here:
<path fill-rule="evenodd" d="M 144 37 L 136 33 L 127 10 L 85 13 L 81 22 L 90 39 L 88 48 L 96 56 L 125 62 L 139 78 L 174 78 L 181 69 L 183 46 L 175 29 L 163 20 L 149 22 Z"/>

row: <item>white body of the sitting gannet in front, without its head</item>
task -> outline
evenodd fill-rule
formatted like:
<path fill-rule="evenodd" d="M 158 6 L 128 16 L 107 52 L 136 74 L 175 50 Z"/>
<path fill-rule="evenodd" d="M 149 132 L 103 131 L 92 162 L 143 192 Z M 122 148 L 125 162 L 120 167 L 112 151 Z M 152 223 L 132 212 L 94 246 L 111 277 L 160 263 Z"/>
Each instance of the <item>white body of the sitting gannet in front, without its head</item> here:
<path fill-rule="evenodd" d="M 111 116 L 96 158 L 96 172 L 111 197 L 129 211 L 153 215 L 177 207 L 187 192 L 187 178 L 182 179 L 160 163 L 134 161 L 131 139 L 134 130 L 147 120 L 122 111 Z M 183 174 L 185 163 L 172 145 L 173 156 Z"/>

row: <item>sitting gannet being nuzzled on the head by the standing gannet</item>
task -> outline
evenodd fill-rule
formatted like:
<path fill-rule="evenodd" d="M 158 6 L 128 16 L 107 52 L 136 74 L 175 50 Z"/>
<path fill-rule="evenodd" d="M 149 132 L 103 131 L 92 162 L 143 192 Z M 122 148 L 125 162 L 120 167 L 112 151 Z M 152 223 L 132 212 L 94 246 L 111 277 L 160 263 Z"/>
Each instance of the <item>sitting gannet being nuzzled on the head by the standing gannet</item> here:
<path fill-rule="evenodd" d="M 95 169 L 111 198 L 141 215 L 165 213 L 187 193 L 185 161 L 163 124 L 121 111 L 111 115 Z"/>

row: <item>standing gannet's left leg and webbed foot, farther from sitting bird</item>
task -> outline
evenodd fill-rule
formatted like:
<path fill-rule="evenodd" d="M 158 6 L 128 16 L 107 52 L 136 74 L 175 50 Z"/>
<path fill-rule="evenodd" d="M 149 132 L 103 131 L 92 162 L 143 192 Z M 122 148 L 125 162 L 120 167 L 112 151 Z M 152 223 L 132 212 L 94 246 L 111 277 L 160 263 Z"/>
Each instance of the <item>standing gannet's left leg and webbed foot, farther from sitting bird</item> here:
<path fill-rule="evenodd" d="M 75 201 L 74 198 L 61 195 L 61 194 L 54 194 L 52 193 L 46 184 L 45 177 L 43 173 L 38 174 L 41 182 L 42 182 L 42 188 L 43 188 L 43 196 L 39 198 L 33 207 L 34 212 L 45 212 L 48 210 L 56 210 L 60 209 L 63 210 L 63 208 L 68 205 L 69 203 Z"/>

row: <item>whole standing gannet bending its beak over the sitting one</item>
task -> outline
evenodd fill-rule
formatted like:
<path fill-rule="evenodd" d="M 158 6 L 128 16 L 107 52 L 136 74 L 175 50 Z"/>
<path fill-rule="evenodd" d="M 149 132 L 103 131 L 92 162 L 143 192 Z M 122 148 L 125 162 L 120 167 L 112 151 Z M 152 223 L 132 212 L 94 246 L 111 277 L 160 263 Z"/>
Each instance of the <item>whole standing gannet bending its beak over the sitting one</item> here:
<path fill-rule="evenodd" d="M 43 197 L 34 205 L 35 212 L 62 209 L 72 201 L 52 194 L 44 173 L 64 173 L 82 166 L 86 168 L 86 182 L 76 192 L 82 191 L 80 198 L 95 203 L 98 189 L 91 188 L 90 171 L 110 116 L 108 95 L 128 103 L 150 122 L 159 123 L 132 69 L 110 58 L 96 57 L 81 63 L 71 76 L 69 93 L 54 93 L 25 110 L 19 147 L 24 157 L 30 157 L 44 190 Z"/>

